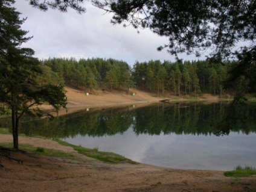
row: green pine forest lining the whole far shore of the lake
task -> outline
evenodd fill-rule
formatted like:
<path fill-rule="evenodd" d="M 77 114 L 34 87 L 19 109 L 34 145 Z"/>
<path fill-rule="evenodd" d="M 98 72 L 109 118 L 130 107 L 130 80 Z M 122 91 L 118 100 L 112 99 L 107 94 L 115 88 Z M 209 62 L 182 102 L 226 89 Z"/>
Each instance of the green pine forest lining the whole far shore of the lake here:
<path fill-rule="evenodd" d="M 43 74 L 38 79 L 42 84 L 71 85 L 92 93 L 102 90 L 125 90 L 136 87 L 158 96 L 191 95 L 200 93 L 233 93 L 243 88 L 241 76 L 229 83 L 229 71 L 237 61 L 210 63 L 209 61 L 136 61 L 129 66 L 124 61 L 112 58 L 49 58 L 40 61 Z M 235 87 L 235 88 L 234 88 Z"/>

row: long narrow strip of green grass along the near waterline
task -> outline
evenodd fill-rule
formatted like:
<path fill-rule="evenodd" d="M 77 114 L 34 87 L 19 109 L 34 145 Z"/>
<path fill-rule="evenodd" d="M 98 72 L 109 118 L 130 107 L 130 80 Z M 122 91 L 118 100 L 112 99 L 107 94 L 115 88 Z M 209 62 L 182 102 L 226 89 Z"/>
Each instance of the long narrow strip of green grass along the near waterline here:
<path fill-rule="evenodd" d="M 109 163 L 130 163 L 130 164 L 138 164 L 135 161 L 125 158 L 124 156 L 118 155 L 112 152 L 101 152 L 98 151 L 98 148 L 88 149 L 82 146 L 75 146 L 74 144 L 66 143 L 65 141 L 57 140 L 59 144 L 63 146 L 73 147 L 74 150 L 77 150 L 78 153 L 89 156 L 94 159 L 98 159 L 103 162 Z"/>

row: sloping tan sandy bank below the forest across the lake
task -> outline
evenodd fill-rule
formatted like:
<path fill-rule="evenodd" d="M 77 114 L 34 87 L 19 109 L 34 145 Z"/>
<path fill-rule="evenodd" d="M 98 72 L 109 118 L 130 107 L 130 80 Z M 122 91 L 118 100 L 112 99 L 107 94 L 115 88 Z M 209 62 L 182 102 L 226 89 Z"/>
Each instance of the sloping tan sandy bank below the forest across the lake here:
<path fill-rule="evenodd" d="M 136 90 L 131 88 L 130 93 L 127 94 L 124 91 L 94 91 L 86 95 L 85 91 L 77 90 L 71 87 L 65 87 L 66 97 L 68 99 L 67 109 L 59 111 L 59 115 L 68 113 L 74 113 L 75 111 L 84 110 L 86 108 L 106 108 L 106 107 L 117 107 L 124 105 L 136 105 L 136 107 L 150 105 L 152 103 L 159 102 L 163 99 L 170 99 L 170 97 L 158 97 L 153 94 L 149 94 L 144 91 Z M 134 93 L 134 94 L 133 94 Z M 177 100 L 174 100 L 177 101 Z M 179 98 L 179 101 L 187 101 L 187 99 Z M 207 104 L 213 102 L 219 102 L 219 96 L 212 96 L 210 94 L 204 94 L 203 98 L 198 101 L 204 101 Z M 52 110 L 50 105 L 42 105 L 41 108 L 45 110 Z M 55 113 L 53 113 L 55 114 Z"/>

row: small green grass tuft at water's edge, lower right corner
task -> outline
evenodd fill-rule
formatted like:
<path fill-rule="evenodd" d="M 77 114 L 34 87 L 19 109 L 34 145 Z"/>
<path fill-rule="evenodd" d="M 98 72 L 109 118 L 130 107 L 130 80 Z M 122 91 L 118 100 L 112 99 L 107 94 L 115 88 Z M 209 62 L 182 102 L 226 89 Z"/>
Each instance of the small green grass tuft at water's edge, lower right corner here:
<path fill-rule="evenodd" d="M 251 175 L 256 175 L 256 169 L 255 167 L 241 167 L 237 166 L 235 167 L 235 170 L 232 170 L 231 172 L 225 172 L 224 175 L 226 177 L 231 177 L 231 178 L 241 178 L 241 177 L 248 177 Z"/>

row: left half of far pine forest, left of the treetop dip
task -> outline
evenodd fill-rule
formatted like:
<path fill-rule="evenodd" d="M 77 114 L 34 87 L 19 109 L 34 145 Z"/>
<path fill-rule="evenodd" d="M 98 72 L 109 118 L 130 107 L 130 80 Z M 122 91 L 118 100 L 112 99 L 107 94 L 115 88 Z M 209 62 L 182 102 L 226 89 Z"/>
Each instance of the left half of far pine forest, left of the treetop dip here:
<path fill-rule="evenodd" d="M 65 85 L 85 88 L 86 91 L 109 88 L 133 87 L 131 69 L 124 61 L 102 58 L 80 59 L 49 58 L 42 61 L 43 67 L 50 67 Z"/>

